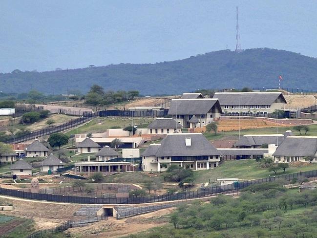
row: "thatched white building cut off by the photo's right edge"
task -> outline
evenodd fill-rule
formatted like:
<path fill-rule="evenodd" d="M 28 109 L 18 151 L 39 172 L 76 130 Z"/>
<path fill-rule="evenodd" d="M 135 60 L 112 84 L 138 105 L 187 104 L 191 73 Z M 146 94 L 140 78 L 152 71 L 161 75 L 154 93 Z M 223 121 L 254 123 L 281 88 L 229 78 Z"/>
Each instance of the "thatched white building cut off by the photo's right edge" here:
<path fill-rule="evenodd" d="M 288 136 L 273 153 L 276 163 L 301 161 L 312 163 L 317 160 L 317 136 Z"/>

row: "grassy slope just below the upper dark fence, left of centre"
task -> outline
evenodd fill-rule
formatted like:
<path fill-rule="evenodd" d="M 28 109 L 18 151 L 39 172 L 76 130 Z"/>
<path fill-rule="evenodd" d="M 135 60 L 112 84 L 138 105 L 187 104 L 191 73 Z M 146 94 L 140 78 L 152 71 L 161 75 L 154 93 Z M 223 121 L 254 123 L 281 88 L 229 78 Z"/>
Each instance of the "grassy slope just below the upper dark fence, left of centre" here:
<path fill-rule="evenodd" d="M 146 128 L 148 124 L 153 121 L 153 118 L 137 118 L 133 119 L 133 125 L 138 126 L 138 128 Z M 98 133 L 98 132 L 105 132 L 106 129 L 112 127 L 120 127 L 125 128 L 132 124 L 131 119 L 127 118 L 108 118 L 108 117 L 98 117 L 92 119 L 90 122 L 86 123 L 85 125 L 70 130 L 66 134 L 78 134 L 78 133 Z"/>

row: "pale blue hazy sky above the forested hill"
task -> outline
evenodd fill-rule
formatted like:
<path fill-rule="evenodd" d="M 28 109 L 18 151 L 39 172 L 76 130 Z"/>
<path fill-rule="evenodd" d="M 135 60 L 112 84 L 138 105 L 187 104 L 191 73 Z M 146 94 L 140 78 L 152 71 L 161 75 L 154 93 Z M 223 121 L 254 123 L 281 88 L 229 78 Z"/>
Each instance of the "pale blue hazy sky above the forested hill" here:
<path fill-rule="evenodd" d="M 0 72 L 268 47 L 317 57 L 316 0 L 1 0 Z"/>

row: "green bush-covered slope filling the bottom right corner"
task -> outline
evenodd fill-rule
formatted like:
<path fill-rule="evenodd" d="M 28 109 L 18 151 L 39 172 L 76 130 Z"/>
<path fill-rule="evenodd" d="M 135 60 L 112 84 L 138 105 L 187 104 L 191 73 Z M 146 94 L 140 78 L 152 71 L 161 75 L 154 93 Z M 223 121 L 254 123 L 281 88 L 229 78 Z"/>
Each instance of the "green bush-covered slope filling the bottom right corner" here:
<path fill-rule="evenodd" d="M 316 222 L 316 190 L 298 193 L 264 183 L 236 198 L 219 195 L 209 203 L 180 205 L 170 225 L 130 238 L 315 238 Z"/>

